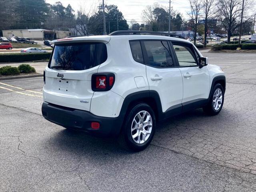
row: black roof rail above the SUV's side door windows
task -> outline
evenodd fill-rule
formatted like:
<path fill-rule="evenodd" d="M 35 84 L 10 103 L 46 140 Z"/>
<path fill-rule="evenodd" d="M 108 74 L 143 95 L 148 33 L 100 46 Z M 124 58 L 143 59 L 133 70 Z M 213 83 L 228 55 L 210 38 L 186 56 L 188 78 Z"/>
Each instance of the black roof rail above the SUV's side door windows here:
<path fill-rule="evenodd" d="M 156 31 L 132 31 L 132 30 L 129 31 L 129 30 L 126 30 L 126 31 L 114 31 L 108 35 L 110 35 L 110 36 L 114 36 L 114 35 L 162 35 L 162 36 L 169 36 L 169 37 L 185 39 L 183 36 L 176 35 L 176 33 L 164 33 L 164 32 L 156 32 Z"/>

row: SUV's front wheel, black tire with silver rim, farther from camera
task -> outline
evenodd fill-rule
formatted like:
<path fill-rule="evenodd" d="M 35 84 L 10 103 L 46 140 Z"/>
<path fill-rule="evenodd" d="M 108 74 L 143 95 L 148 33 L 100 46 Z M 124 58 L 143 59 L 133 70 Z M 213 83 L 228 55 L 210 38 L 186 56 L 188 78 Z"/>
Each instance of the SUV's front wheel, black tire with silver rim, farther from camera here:
<path fill-rule="evenodd" d="M 216 101 L 217 96 L 217 101 Z M 208 104 L 203 108 L 208 115 L 217 115 L 222 110 L 224 104 L 224 90 L 221 84 L 216 84 L 213 88 L 212 94 Z"/>

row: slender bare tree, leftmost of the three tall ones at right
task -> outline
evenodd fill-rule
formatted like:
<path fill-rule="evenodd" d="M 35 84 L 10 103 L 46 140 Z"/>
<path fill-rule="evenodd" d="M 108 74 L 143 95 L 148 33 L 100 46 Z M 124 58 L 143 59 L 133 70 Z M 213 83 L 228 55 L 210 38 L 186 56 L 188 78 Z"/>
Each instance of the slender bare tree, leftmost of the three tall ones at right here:
<path fill-rule="evenodd" d="M 194 44 L 196 44 L 196 32 L 198 21 L 200 19 L 200 11 L 202 9 L 202 1 L 201 0 L 189 0 L 190 3 L 190 12 L 187 12 L 190 20 L 192 21 L 192 27 L 194 29 Z"/>

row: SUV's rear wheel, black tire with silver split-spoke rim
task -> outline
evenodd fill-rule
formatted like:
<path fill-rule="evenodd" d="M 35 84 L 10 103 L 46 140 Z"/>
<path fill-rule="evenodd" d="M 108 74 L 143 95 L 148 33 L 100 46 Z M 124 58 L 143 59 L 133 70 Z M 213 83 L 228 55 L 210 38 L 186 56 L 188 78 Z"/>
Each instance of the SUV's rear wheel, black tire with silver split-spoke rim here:
<path fill-rule="evenodd" d="M 128 111 L 118 142 L 122 148 L 138 152 L 144 150 L 152 141 L 156 130 L 156 117 L 152 108 L 146 103 L 139 103 Z"/>

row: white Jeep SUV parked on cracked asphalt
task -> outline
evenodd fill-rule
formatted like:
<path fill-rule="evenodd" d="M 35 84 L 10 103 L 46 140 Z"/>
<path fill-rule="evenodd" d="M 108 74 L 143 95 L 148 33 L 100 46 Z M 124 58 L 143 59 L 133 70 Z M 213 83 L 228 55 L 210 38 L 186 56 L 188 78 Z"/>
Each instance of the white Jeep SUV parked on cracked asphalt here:
<path fill-rule="evenodd" d="M 157 121 L 195 108 L 210 115 L 222 109 L 221 68 L 176 35 L 117 31 L 52 43 L 42 114 L 65 128 L 117 138 L 139 151 Z"/>

